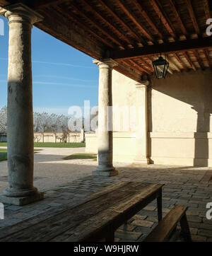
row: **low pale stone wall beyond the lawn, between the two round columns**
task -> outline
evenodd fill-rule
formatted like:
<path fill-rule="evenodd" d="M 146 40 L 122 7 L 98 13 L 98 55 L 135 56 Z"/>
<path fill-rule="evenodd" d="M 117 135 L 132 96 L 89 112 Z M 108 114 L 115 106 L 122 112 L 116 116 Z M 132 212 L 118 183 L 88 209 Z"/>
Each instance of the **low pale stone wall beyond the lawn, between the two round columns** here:
<path fill-rule="evenodd" d="M 83 142 L 84 141 L 84 131 L 81 132 L 67 132 L 66 142 Z M 34 132 L 34 142 L 64 142 L 64 134 L 62 132 Z"/>

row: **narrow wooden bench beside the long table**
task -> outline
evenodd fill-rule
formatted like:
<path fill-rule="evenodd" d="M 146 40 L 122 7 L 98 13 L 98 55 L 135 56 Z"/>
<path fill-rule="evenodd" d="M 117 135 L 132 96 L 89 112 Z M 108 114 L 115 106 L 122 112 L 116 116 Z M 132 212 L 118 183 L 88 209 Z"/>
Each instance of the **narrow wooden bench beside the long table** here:
<path fill-rule="evenodd" d="M 180 223 L 181 233 L 184 240 L 192 241 L 186 216 L 187 208 L 188 207 L 184 205 L 176 205 L 173 207 L 165 218 L 158 223 L 158 226 L 156 226 L 146 239 L 143 240 L 143 242 L 167 241 L 172 232 L 175 231 L 178 222 Z"/>

